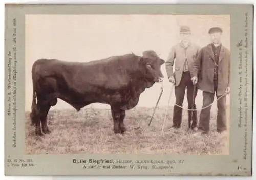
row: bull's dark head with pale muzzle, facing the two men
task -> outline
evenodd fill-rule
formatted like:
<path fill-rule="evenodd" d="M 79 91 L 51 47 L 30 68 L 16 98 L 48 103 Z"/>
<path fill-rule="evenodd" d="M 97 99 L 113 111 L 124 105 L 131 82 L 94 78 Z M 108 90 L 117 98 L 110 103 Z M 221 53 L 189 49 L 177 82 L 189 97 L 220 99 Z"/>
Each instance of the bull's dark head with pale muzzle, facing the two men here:
<path fill-rule="evenodd" d="M 144 69 L 144 77 L 148 81 L 162 82 L 163 74 L 161 72 L 161 65 L 163 65 L 164 62 L 163 59 L 158 57 L 155 51 L 144 51 L 140 59 L 140 63 Z"/>

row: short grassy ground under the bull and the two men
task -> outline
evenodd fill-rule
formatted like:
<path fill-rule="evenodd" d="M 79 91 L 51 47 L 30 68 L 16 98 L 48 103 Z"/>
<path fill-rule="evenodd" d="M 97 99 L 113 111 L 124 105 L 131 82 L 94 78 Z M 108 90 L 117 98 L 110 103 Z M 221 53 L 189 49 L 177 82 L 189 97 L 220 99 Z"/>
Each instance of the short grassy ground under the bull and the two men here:
<path fill-rule="evenodd" d="M 123 154 L 228 154 L 229 136 L 216 132 L 216 113 L 211 113 L 208 136 L 193 136 L 187 130 L 187 112 L 183 111 L 182 129 L 170 131 L 173 110 L 170 108 L 161 135 L 165 108 L 157 108 L 151 126 L 147 126 L 153 108 L 137 107 L 126 111 L 127 131 L 114 134 L 109 109 L 83 108 L 50 110 L 48 125 L 51 134 L 34 135 L 26 113 L 25 148 L 28 154 L 123 153 Z"/>

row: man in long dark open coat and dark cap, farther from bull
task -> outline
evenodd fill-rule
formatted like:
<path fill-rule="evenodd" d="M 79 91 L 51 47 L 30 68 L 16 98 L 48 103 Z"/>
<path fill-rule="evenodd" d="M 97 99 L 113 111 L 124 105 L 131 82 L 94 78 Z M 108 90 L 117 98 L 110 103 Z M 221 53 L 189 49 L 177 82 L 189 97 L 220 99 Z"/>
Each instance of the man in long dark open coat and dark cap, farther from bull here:
<path fill-rule="evenodd" d="M 203 91 L 203 107 L 214 101 L 215 94 L 219 98 L 230 89 L 230 52 L 221 43 L 222 29 L 213 27 L 208 33 L 212 42 L 199 51 L 191 78 Z M 217 132 L 222 133 L 227 129 L 225 95 L 218 100 L 217 106 Z M 210 109 L 211 106 L 201 110 L 199 130 L 203 134 L 209 131 Z"/>

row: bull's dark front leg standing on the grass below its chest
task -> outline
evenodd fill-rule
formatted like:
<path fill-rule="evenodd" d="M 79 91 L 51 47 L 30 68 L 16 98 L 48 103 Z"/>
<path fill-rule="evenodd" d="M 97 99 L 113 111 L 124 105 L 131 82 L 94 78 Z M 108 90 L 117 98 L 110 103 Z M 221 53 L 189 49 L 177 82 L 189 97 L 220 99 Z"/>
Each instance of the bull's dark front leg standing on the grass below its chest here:
<path fill-rule="evenodd" d="M 126 131 L 123 123 L 125 111 L 118 107 L 111 106 L 111 113 L 114 121 L 114 132 L 116 134 L 123 134 Z"/>

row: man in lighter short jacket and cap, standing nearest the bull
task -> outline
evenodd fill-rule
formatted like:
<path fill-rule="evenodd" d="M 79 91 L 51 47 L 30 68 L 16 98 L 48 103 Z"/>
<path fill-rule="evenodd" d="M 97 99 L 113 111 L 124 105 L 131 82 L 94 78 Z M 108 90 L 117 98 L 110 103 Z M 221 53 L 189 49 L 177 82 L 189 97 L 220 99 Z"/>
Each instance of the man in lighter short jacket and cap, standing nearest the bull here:
<path fill-rule="evenodd" d="M 195 97 L 197 88 L 191 81 L 191 69 L 196 60 L 200 47 L 190 41 L 190 28 L 187 26 L 180 27 L 181 42 L 172 47 L 168 59 L 165 63 L 168 79 L 175 85 L 176 104 L 182 106 L 185 90 L 187 89 L 187 102 L 189 109 L 196 109 Z M 175 65 L 175 72 L 173 72 Z M 193 95 L 194 94 L 194 95 Z M 181 126 L 182 108 L 174 106 L 173 127 L 179 129 Z M 197 130 L 197 111 L 188 111 L 188 121 L 192 124 L 189 128 Z"/>

